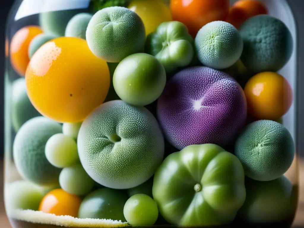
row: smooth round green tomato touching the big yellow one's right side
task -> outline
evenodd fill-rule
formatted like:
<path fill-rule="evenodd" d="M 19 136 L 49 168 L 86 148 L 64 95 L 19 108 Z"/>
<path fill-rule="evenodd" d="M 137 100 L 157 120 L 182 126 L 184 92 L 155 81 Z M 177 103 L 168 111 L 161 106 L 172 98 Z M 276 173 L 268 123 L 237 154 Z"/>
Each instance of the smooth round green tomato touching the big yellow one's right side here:
<path fill-rule="evenodd" d="M 117 95 L 131 105 L 148 105 L 156 101 L 166 84 L 161 63 L 146 53 L 132 54 L 115 69 L 113 86 Z"/>

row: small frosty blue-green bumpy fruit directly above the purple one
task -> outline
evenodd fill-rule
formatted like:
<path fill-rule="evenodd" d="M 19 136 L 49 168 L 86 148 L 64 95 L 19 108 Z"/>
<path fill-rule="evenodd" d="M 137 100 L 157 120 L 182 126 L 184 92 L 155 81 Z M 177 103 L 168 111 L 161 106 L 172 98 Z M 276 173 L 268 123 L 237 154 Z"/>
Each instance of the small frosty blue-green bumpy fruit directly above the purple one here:
<path fill-rule="evenodd" d="M 225 69 L 237 62 L 243 51 L 239 31 L 224 21 L 203 26 L 195 37 L 196 52 L 201 63 L 214 69 Z"/>

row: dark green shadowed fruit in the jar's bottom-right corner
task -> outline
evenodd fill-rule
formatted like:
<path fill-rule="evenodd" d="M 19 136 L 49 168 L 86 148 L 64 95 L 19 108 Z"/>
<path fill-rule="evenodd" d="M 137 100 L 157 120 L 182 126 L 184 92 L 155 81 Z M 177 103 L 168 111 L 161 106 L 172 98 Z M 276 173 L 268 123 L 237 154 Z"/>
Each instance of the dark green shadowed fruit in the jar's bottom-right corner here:
<path fill-rule="evenodd" d="M 272 181 L 246 178 L 246 200 L 240 217 L 250 223 L 276 223 L 291 218 L 297 201 L 291 182 L 281 176 Z"/>

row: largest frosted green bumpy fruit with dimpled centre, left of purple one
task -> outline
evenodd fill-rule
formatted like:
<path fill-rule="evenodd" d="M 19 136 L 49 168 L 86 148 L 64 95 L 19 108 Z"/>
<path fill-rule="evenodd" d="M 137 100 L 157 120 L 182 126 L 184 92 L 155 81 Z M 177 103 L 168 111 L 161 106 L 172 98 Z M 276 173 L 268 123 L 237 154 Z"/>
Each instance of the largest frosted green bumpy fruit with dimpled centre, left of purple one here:
<path fill-rule="evenodd" d="M 121 100 L 100 105 L 84 120 L 77 146 L 90 177 L 116 189 L 147 181 L 164 156 L 164 138 L 155 117 L 146 108 Z"/>

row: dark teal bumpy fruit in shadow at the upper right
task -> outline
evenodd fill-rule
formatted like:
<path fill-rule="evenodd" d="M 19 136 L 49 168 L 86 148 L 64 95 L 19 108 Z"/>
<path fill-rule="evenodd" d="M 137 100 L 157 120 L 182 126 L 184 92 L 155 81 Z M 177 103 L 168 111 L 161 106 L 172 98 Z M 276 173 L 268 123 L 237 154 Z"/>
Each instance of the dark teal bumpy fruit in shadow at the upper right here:
<path fill-rule="evenodd" d="M 240 59 L 250 71 L 276 72 L 290 59 L 292 35 L 281 20 L 269 15 L 257 15 L 245 21 L 239 30 L 244 41 Z"/>

